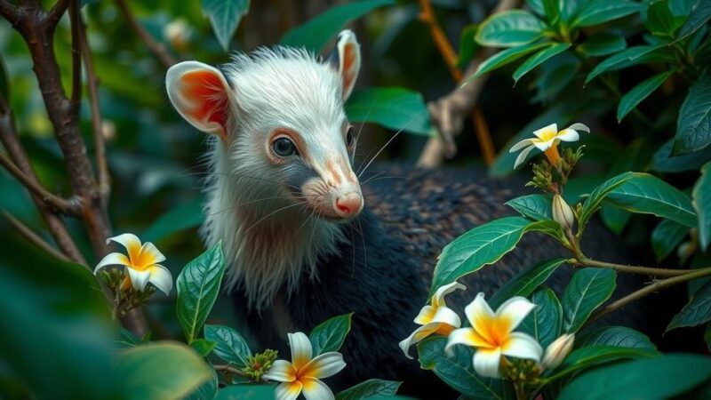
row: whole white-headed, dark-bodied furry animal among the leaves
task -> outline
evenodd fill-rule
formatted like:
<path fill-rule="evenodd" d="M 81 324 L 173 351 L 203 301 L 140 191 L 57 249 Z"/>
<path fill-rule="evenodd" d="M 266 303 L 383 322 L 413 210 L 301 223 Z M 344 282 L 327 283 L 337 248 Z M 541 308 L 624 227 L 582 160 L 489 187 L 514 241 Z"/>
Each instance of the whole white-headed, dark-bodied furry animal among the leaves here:
<path fill-rule="evenodd" d="M 305 50 L 260 49 L 220 69 L 181 62 L 166 85 L 180 115 L 212 134 L 202 233 L 207 244 L 222 241 L 226 287 L 260 339 L 275 346 L 286 332 L 309 332 L 354 312 L 341 378 L 405 380 L 412 390 L 431 390 L 434 374 L 423 375 L 398 342 L 416 327 L 436 256 L 468 229 L 511 213 L 503 203 L 523 185 L 476 170 L 385 165 L 403 179 L 362 188 L 343 111 L 360 64 L 356 36 L 345 30 L 325 60 Z M 522 268 L 560 252 L 540 237 L 520 247 L 465 280 L 467 293 L 454 301 L 491 295 Z"/>

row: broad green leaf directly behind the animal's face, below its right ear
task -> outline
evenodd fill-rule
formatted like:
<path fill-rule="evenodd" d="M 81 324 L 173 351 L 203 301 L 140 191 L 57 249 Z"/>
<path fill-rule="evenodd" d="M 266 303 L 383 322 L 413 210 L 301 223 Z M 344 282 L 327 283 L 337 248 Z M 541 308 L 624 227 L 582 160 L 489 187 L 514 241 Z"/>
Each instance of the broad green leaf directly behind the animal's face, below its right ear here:
<path fill-rule="evenodd" d="M 351 122 L 372 122 L 396 131 L 431 134 L 432 125 L 422 94 L 402 87 L 356 90 L 345 109 Z"/>

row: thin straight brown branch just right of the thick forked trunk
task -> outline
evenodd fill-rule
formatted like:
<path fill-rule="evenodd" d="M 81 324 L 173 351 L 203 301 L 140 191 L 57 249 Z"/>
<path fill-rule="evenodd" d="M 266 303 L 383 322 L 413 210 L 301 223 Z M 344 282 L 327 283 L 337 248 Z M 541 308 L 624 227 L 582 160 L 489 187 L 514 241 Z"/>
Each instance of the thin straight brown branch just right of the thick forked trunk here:
<path fill-rule="evenodd" d="M 89 42 L 86 39 L 86 26 L 84 23 L 81 24 L 81 30 L 79 31 L 79 44 L 81 46 L 82 58 L 84 59 L 86 84 L 89 89 L 89 106 L 92 111 L 92 131 L 96 165 L 99 175 L 99 192 L 103 203 L 106 204 L 108 202 L 108 196 L 111 193 L 111 175 L 108 173 L 106 141 L 103 135 L 103 122 L 99 104 L 99 79 L 94 70 L 92 52 L 89 48 Z"/>

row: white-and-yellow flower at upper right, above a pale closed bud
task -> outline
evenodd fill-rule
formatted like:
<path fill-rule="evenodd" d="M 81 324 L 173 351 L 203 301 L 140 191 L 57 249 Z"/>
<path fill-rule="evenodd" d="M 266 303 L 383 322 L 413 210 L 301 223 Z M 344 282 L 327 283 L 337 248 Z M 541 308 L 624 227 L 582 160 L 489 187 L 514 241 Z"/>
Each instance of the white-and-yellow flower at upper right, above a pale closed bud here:
<path fill-rule="evenodd" d="M 571 126 L 558 131 L 557 124 L 549 124 L 545 128 L 540 128 L 538 131 L 533 131 L 535 138 L 524 139 L 516 143 L 509 153 L 515 153 L 523 148 L 521 154 L 516 157 L 514 169 L 518 165 L 523 164 L 526 156 L 531 153 L 533 148 L 538 148 L 546 154 L 550 164 L 558 165 L 561 161 L 561 156 L 558 153 L 558 143 L 561 141 L 578 141 L 580 139 L 579 131 L 590 133 L 590 128 L 585 124 L 571 124 Z"/>

